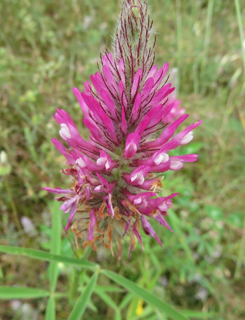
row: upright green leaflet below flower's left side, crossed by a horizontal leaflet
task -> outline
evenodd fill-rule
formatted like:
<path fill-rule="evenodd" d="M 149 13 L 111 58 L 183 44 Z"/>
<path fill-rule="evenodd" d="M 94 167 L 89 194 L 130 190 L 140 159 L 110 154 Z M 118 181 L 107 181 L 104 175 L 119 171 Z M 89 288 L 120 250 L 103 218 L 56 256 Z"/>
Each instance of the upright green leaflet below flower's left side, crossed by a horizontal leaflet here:
<path fill-rule="evenodd" d="M 51 233 L 51 250 L 50 253 L 60 254 L 61 252 L 61 220 L 60 208 L 57 201 L 52 205 L 53 219 L 52 219 L 52 233 Z M 51 261 L 49 266 L 49 283 L 51 292 L 55 291 L 58 279 L 58 262 Z"/>

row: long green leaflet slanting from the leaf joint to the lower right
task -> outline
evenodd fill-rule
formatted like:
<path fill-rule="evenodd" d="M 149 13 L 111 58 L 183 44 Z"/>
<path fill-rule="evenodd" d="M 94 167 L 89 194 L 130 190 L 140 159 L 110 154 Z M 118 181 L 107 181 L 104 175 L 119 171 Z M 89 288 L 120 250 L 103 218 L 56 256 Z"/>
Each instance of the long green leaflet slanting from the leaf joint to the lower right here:
<path fill-rule="evenodd" d="M 117 284 L 120 284 L 125 289 L 136 294 L 139 298 L 143 299 L 145 302 L 150 303 L 152 306 L 163 311 L 171 319 L 187 320 L 187 317 L 183 316 L 179 311 L 175 310 L 168 303 L 160 300 L 157 296 L 155 296 L 145 288 L 141 288 L 138 284 L 133 283 L 131 280 L 109 270 L 102 270 L 102 273 L 106 275 L 108 278 L 110 278 L 111 280 L 115 281 Z"/>

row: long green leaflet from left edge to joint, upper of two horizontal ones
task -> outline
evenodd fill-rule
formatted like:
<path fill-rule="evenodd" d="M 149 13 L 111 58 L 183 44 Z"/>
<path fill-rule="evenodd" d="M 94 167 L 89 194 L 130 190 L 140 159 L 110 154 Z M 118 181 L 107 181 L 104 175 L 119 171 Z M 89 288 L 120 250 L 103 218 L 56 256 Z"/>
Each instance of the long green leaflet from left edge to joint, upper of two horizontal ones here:
<path fill-rule="evenodd" d="M 73 265 L 80 266 L 86 269 L 91 269 L 91 270 L 98 268 L 97 263 L 94 263 L 94 262 L 84 261 L 84 260 L 75 259 L 75 258 L 69 258 L 66 256 L 52 254 L 42 250 L 14 247 L 10 245 L 0 245 L 0 252 L 5 252 L 5 253 L 19 255 L 19 256 L 25 256 L 33 259 L 38 259 L 38 260 L 69 263 L 69 264 L 73 264 Z"/>

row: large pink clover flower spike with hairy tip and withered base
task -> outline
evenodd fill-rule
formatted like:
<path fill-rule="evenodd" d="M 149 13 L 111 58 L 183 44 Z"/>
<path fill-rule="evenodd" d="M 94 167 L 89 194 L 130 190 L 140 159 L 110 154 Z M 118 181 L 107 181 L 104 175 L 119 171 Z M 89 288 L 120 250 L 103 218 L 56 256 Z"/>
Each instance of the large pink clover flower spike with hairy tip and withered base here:
<path fill-rule="evenodd" d="M 140 224 L 162 246 L 151 222 L 156 219 L 171 230 L 166 216 L 177 193 L 157 197 L 162 187 L 159 173 L 179 170 L 197 159 L 196 154 L 168 155 L 192 140 L 192 130 L 201 120 L 175 134 L 189 115 L 168 120 L 178 102 L 174 96 L 169 99 L 174 88 L 168 83 L 168 63 L 161 68 L 154 64 L 155 42 L 146 2 L 123 1 L 114 52 L 101 54 L 101 66 L 84 83 L 84 92 L 72 89 L 91 132 L 89 141 L 65 110 L 57 109 L 54 116 L 69 148 L 57 139 L 52 142 L 66 158 L 63 173 L 73 183 L 68 189 L 44 189 L 61 195 L 61 210 L 70 212 L 65 229 L 73 222 L 76 241 L 81 238 L 84 247 L 94 250 L 100 242 L 112 254 L 116 243 L 119 259 L 126 234 L 129 257 L 135 236 L 143 249 Z"/>

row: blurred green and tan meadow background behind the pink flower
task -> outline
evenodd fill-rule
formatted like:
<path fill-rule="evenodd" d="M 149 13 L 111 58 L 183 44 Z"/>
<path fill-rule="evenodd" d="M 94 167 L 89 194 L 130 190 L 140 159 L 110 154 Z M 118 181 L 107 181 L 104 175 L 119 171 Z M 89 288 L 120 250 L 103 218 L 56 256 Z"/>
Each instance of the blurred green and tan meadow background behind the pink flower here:
<path fill-rule="evenodd" d="M 203 120 L 192 142 L 178 152 L 198 153 L 199 158 L 165 175 L 165 192 L 180 194 L 169 211 L 174 233 L 153 224 L 163 249 L 155 239 L 143 236 L 145 252 L 137 245 L 130 261 L 125 239 L 119 266 L 102 249 L 91 252 L 89 260 L 152 290 L 190 319 L 242 320 L 245 93 L 235 4 L 232 0 L 148 4 L 158 32 L 156 62 L 179 68 L 178 96 L 190 113 L 187 124 Z M 240 4 L 244 18 L 245 1 Z M 66 186 L 60 173 L 63 156 L 50 141 L 59 137 L 53 115 L 56 107 L 64 108 L 88 137 L 71 88 L 83 89 L 83 81 L 97 71 L 102 45 L 110 48 L 120 1 L 5 0 L 0 12 L 1 243 L 49 250 L 53 195 L 41 187 Z M 67 218 L 61 215 L 64 226 Z M 73 235 L 63 231 L 62 253 L 73 256 L 72 247 L 76 251 Z M 45 289 L 47 273 L 46 262 L 1 255 L 0 284 Z M 56 319 L 67 319 L 84 272 L 59 264 L 59 273 L 57 290 L 67 293 L 68 299 L 61 296 L 56 301 Z M 110 284 L 104 277 L 98 283 Z M 105 294 L 104 299 L 92 295 L 83 319 L 114 319 L 111 300 L 119 305 L 126 292 Z M 168 319 L 132 295 L 126 299 L 122 319 Z M 2 301 L 0 319 L 44 319 L 45 305 L 46 298 Z"/>

